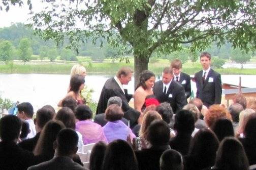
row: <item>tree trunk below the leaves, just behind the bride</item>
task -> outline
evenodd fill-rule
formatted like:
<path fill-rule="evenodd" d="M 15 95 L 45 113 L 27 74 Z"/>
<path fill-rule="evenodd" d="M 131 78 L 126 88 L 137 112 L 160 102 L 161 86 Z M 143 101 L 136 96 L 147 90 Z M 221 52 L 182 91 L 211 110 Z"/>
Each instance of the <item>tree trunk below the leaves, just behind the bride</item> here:
<path fill-rule="evenodd" d="M 139 83 L 139 75 L 143 70 L 148 69 L 149 57 L 134 54 L 134 87 Z"/>

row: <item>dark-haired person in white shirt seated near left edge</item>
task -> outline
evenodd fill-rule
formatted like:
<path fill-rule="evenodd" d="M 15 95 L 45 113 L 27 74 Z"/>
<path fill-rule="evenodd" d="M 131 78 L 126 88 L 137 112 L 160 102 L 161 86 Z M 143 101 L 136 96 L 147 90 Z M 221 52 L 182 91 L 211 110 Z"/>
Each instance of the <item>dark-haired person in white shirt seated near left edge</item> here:
<path fill-rule="evenodd" d="M 36 136 L 36 128 L 35 128 L 34 121 L 32 119 L 34 114 L 33 106 L 28 102 L 23 102 L 23 103 L 20 103 L 17 106 L 17 108 L 18 108 L 17 116 L 20 119 L 25 120 L 29 124 L 30 133 L 27 135 L 27 138 L 28 139 L 34 138 Z"/>

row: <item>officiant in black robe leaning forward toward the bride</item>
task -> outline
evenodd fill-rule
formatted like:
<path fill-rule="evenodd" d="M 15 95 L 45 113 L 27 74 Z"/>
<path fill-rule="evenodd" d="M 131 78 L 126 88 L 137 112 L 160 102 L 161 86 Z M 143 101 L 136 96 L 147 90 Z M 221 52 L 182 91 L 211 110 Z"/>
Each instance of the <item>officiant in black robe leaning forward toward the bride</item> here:
<path fill-rule="evenodd" d="M 129 67 L 122 67 L 119 69 L 115 77 L 109 78 L 102 88 L 101 96 L 97 106 L 96 114 L 104 113 L 108 104 L 110 97 L 118 96 L 122 100 L 122 110 L 123 112 L 129 111 L 129 115 L 133 120 L 138 120 L 140 117 L 140 112 L 134 110 L 129 106 L 129 101 L 133 95 L 127 94 L 127 90 L 123 89 L 123 84 L 128 84 L 132 79 L 133 71 Z M 130 119 L 129 119 L 130 120 Z"/>

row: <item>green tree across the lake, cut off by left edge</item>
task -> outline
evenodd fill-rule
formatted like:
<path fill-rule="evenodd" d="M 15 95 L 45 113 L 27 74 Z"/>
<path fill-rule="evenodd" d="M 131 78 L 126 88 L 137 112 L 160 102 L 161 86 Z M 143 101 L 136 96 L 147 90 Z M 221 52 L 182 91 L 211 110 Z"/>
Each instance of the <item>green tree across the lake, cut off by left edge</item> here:
<path fill-rule="evenodd" d="M 12 43 L 8 40 L 1 41 L 0 43 L 0 60 L 5 61 L 7 64 L 8 61 L 12 60 L 13 47 Z"/>

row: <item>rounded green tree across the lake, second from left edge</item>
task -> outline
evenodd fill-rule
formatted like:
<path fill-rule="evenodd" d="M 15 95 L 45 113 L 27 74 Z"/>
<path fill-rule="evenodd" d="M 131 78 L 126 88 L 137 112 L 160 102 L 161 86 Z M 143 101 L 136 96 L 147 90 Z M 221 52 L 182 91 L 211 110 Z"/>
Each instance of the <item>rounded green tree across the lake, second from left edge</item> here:
<path fill-rule="evenodd" d="M 30 47 L 30 41 L 28 38 L 22 38 L 19 42 L 19 58 L 24 62 L 30 61 L 33 51 Z"/>

